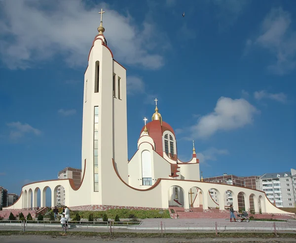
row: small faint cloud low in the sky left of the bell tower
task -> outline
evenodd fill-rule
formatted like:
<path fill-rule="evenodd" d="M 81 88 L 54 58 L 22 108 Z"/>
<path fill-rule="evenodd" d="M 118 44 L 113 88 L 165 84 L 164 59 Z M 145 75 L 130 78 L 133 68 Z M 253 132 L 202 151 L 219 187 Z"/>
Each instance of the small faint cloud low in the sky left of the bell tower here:
<path fill-rule="evenodd" d="M 35 135 L 40 135 L 41 131 L 28 123 L 22 124 L 21 122 L 10 122 L 7 123 L 7 126 L 10 127 L 9 138 L 11 140 L 16 140 L 23 137 L 26 133 L 33 133 Z"/>

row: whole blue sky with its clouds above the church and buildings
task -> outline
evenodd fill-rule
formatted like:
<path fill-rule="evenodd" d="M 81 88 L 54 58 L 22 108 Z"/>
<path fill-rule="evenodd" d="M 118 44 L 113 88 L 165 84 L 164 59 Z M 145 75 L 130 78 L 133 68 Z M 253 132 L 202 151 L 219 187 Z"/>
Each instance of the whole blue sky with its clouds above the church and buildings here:
<path fill-rule="evenodd" d="M 81 167 L 83 75 L 101 7 L 127 68 L 129 158 L 157 97 L 179 158 L 191 158 L 194 139 L 204 177 L 295 168 L 295 4 L 0 1 L 0 185 L 20 193 Z"/>

